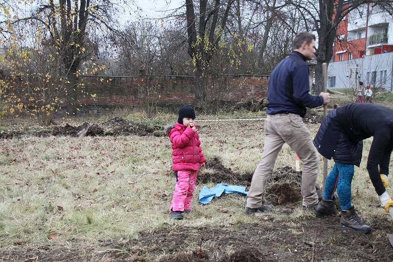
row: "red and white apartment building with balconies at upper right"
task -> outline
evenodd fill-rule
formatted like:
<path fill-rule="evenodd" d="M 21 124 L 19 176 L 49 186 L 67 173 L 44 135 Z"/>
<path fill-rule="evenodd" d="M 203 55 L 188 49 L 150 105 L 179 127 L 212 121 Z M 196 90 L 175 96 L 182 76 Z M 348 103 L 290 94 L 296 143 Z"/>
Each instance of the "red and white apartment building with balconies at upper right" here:
<path fill-rule="evenodd" d="M 359 81 L 393 89 L 393 18 L 379 6 L 363 4 L 337 28 L 328 87 L 353 87 Z"/>

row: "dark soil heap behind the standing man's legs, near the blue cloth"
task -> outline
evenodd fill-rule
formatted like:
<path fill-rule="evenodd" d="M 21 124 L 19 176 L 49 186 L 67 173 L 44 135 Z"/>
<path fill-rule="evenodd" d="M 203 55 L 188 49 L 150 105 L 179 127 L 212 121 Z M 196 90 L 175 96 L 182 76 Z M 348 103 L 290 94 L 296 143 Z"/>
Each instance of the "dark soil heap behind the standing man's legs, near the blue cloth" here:
<path fill-rule="evenodd" d="M 219 157 L 206 162 L 205 172 L 197 176 L 197 183 L 226 183 L 249 187 L 253 173 L 236 173 L 227 168 Z M 213 170 L 213 172 L 209 172 Z M 275 170 L 265 185 L 264 199 L 267 204 L 285 205 L 301 200 L 302 172 L 290 166 Z M 318 185 L 315 185 L 319 189 Z"/>

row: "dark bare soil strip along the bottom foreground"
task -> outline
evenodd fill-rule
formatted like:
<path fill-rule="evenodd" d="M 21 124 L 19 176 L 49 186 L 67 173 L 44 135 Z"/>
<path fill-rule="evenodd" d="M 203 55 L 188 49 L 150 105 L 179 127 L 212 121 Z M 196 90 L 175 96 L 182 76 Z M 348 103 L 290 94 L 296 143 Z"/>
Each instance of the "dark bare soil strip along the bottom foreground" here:
<path fill-rule="evenodd" d="M 386 217 L 365 218 L 373 231 L 359 234 L 339 226 L 338 217 L 253 224 L 191 227 L 164 224 L 139 233 L 137 239 L 101 241 L 84 246 L 70 239 L 67 246 L 38 244 L 1 247 L 3 261 L 392 261 Z M 201 251 L 198 248 L 202 240 Z M 69 245 L 72 244 L 72 248 Z M 192 250 L 187 252 L 187 250 Z M 229 255 L 228 255 L 229 254 Z M 198 257 L 199 256 L 199 257 Z M 203 258 L 202 258 L 203 256 Z M 208 259 L 206 259 L 208 257 Z M 30 258 L 30 260 L 28 260 Z M 235 260 L 235 259 L 243 260 Z M 32 260 L 31 260 L 32 259 Z M 249 260 L 247 260 L 249 259 Z M 259 259 L 259 260 L 257 260 Z M 265 260 L 263 260 L 265 259 Z M 187 262 L 184 259 L 181 261 Z"/>

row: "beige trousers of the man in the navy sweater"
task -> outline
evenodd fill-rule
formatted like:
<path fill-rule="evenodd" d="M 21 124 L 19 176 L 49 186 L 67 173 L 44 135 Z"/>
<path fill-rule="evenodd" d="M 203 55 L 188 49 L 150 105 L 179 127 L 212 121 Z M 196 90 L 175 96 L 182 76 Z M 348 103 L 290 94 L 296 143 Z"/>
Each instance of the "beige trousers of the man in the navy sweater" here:
<path fill-rule="evenodd" d="M 262 159 L 253 174 L 251 187 L 247 195 L 247 207 L 259 208 L 262 206 L 264 185 L 272 174 L 277 156 L 284 143 L 287 143 L 295 151 L 303 163 L 301 189 L 303 205 L 311 206 L 318 203 L 315 182 L 319 157 L 312 144 L 311 134 L 302 118 L 296 114 L 267 115 L 265 134 Z"/>

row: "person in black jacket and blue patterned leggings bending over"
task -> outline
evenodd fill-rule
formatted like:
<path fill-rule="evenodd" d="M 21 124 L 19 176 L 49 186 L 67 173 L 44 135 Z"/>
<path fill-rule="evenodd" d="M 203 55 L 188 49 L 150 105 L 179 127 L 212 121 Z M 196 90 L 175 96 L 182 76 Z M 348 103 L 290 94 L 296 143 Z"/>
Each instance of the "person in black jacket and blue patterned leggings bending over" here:
<path fill-rule="evenodd" d="M 351 203 L 351 182 L 354 165 L 362 160 L 363 139 L 373 136 L 367 159 L 367 171 L 375 187 L 381 206 L 389 212 L 393 201 L 386 192 L 389 161 L 393 150 L 393 110 L 375 104 L 349 104 L 338 107 L 323 120 L 313 144 L 325 158 L 335 165 L 325 181 L 323 199 L 314 210 L 317 216 L 337 214 L 334 191 L 341 204 L 342 227 L 369 233 Z"/>

